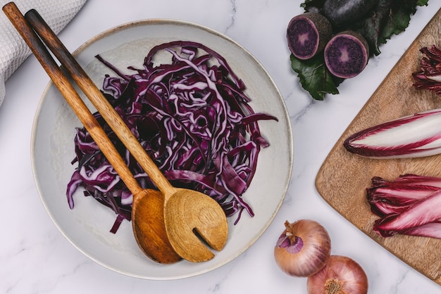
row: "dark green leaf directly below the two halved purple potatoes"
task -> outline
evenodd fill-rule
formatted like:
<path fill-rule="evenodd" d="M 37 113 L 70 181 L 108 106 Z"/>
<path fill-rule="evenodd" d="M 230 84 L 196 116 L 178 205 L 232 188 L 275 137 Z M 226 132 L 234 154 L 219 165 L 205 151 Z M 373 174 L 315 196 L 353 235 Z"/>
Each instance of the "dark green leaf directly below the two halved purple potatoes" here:
<path fill-rule="evenodd" d="M 294 72 L 297 72 L 303 89 L 308 91 L 312 98 L 323 100 L 325 94 L 339 94 L 337 86 L 343 79 L 331 75 L 326 68 L 323 55 L 301 60 L 291 54 L 291 66 Z"/>

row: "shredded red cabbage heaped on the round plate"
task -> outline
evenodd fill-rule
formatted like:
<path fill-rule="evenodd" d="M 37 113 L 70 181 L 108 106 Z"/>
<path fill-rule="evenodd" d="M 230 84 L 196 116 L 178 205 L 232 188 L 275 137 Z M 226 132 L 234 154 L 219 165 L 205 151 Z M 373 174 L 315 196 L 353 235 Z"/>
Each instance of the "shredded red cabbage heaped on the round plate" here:
<path fill-rule="evenodd" d="M 154 65 L 159 51 L 170 53 L 169 64 Z M 278 120 L 254 113 L 245 86 L 226 60 L 208 47 L 191 41 L 173 41 L 149 51 L 144 68 L 124 75 L 97 56 L 118 77 L 106 75 L 104 96 L 128 124 L 147 153 L 175 186 L 192 188 L 215 199 L 228 217 L 243 210 L 254 212 L 242 198 L 256 170 L 261 148 L 269 146 L 259 131 L 259 120 Z M 142 188 L 156 188 L 99 113 L 101 126 L 125 159 Z M 111 232 L 131 218 L 132 194 L 85 128 L 75 136 L 73 164 L 78 166 L 67 188 L 116 212 Z"/>

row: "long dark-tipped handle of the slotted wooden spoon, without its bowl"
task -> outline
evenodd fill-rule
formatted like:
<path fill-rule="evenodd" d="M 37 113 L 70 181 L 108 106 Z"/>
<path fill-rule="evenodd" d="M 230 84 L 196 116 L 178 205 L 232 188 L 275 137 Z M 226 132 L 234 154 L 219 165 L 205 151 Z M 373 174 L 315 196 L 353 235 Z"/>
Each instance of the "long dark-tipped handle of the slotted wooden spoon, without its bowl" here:
<path fill-rule="evenodd" d="M 118 113 L 116 113 L 116 110 L 103 96 L 101 91 L 99 91 L 92 79 L 87 76 L 86 72 L 77 63 L 77 60 L 70 54 L 60 39 L 56 37 L 56 34 L 51 30 L 49 25 L 46 24 L 41 15 L 32 9 L 25 13 L 25 19 L 32 25 L 33 29 L 39 34 L 39 37 L 42 38 L 56 58 L 58 58 L 63 68 L 69 72 L 69 75 L 71 75 L 80 89 L 86 94 L 87 98 L 89 98 L 95 108 L 97 108 L 104 120 L 106 120 L 111 129 L 113 129 L 113 132 L 115 132 L 125 147 L 132 153 L 139 165 L 147 172 L 151 181 L 153 181 L 164 194 L 170 194 L 166 193 L 167 191 L 174 191 L 174 187 L 171 186 L 161 170 L 159 170 L 159 167 L 157 167 L 154 161 L 147 155 L 128 126 L 120 118 Z"/>

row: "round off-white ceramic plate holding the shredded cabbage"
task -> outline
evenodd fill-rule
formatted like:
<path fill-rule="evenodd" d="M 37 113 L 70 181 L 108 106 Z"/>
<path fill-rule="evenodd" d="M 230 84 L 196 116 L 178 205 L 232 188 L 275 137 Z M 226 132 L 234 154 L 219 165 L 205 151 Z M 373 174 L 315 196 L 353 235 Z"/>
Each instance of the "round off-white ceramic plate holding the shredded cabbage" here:
<path fill-rule="evenodd" d="M 78 250 L 95 262 L 121 274 L 142 279 L 181 279 L 206 273 L 230 262 L 249 248 L 273 221 L 290 181 L 293 143 L 285 103 L 262 65 L 223 34 L 206 27 L 174 20 L 145 20 L 115 27 L 82 45 L 74 55 L 94 82 L 101 88 L 109 72 L 94 56 L 98 53 L 117 68 L 129 65 L 140 68 L 152 46 L 166 41 L 197 41 L 221 53 L 232 70 L 242 78 L 256 112 L 264 112 L 279 121 L 261 121 L 261 133 L 271 143 L 259 154 L 254 179 L 244 194 L 255 216 L 247 212 L 237 225 L 229 219 L 229 236 L 225 248 L 208 262 L 181 261 L 163 265 L 151 261 L 138 248 L 132 226 L 124 221 L 116 234 L 109 233 L 116 215 L 92 197 L 74 196 L 75 208 L 66 200 L 66 185 L 75 165 L 73 138 L 81 127 L 54 84 L 49 83 L 35 117 L 32 132 L 32 167 L 35 181 L 49 216 L 61 233 Z M 94 111 L 92 109 L 92 111 Z"/>

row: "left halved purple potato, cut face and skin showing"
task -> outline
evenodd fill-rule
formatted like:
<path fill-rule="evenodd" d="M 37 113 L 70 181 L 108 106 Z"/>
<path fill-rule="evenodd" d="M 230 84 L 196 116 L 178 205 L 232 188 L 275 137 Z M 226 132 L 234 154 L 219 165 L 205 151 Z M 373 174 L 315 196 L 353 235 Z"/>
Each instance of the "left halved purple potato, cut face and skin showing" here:
<path fill-rule="evenodd" d="M 320 13 L 294 16 L 287 28 L 288 47 L 299 59 L 309 59 L 323 51 L 331 36 L 331 24 Z"/>

